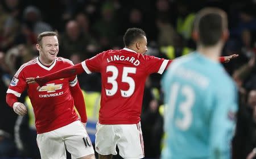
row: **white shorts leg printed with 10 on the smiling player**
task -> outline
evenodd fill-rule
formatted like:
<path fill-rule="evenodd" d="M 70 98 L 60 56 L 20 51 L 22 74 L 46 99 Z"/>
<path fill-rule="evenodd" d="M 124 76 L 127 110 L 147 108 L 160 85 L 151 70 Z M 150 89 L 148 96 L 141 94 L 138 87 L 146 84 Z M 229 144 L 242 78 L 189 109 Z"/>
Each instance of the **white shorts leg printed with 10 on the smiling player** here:
<path fill-rule="evenodd" d="M 94 154 L 92 142 L 80 121 L 66 125 L 59 131 L 72 158 L 84 158 Z"/>

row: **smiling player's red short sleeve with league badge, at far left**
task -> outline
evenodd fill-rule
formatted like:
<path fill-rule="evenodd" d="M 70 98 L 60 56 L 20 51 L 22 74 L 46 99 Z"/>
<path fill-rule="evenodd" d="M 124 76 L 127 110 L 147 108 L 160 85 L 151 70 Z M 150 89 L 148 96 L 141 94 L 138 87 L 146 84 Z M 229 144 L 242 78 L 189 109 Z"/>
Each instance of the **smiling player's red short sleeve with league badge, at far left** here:
<path fill-rule="evenodd" d="M 22 67 L 20 67 L 22 68 Z M 26 89 L 27 83 L 25 81 L 26 77 L 24 77 L 24 69 L 18 70 L 16 74 L 14 75 L 13 79 L 11 80 L 11 83 L 9 85 L 9 88 L 6 93 L 12 93 L 16 97 L 20 97 L 22 92 Z"/>

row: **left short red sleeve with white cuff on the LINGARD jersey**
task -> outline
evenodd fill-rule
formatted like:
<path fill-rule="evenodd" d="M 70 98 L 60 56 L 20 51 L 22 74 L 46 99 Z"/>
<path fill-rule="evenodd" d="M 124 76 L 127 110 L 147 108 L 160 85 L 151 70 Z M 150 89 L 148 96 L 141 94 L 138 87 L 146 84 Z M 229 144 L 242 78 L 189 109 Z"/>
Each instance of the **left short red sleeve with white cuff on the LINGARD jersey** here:
<path fill-rule="evenodd" d="M 102 62 L 102 56 L 104 52 L 98 53 L 96 56 L 89 58 L 85 61 L 82 61 L 82 68 L 85 70 L 87 74 L 91 74 L 92 72 L 100 72 L 100 66 Z"/>

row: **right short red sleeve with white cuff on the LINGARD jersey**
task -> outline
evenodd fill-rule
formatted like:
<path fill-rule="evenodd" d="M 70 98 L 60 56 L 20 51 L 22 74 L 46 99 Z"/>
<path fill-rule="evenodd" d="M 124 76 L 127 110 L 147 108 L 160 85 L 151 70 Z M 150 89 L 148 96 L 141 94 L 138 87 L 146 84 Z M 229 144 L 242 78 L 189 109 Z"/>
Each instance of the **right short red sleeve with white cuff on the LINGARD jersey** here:
<path fill-rule="evenodd" d="M 166 60 L 164 58 L 158 58 L 155 56 L 144 55 L 145 57 L 145 66 L 146 72 L 148 74 L 151 73 L 159 73 L 162 74 L 164 70 L 167 68 L 167 65 L 170 64 L 171 60 Z"/>

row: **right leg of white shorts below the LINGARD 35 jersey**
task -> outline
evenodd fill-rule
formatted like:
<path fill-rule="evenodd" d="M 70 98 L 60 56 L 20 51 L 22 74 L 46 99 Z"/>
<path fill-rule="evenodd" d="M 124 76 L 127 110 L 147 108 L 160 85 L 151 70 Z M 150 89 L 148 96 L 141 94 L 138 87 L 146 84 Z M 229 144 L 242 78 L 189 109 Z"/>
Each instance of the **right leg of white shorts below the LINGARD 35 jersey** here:
<path fill-rule="evenodd" d="M 122 131 L 117 146 L 123 158 L 143 158 L 144 145 L 141 123 L 121 125 Z"/>

